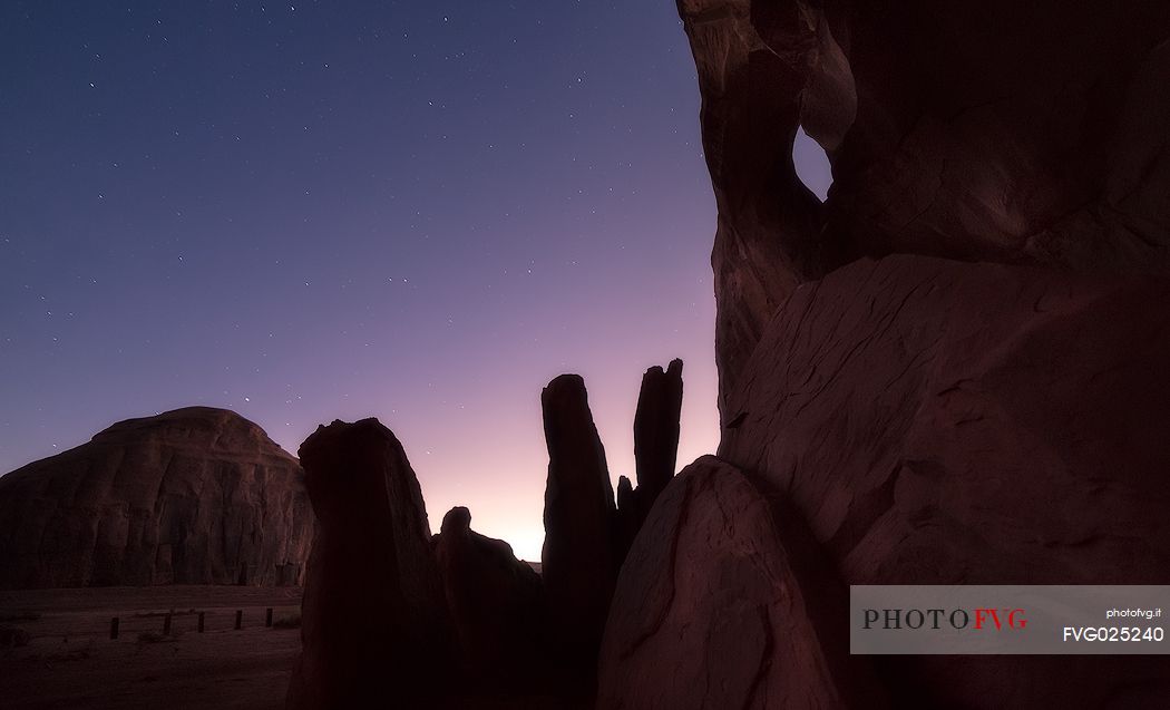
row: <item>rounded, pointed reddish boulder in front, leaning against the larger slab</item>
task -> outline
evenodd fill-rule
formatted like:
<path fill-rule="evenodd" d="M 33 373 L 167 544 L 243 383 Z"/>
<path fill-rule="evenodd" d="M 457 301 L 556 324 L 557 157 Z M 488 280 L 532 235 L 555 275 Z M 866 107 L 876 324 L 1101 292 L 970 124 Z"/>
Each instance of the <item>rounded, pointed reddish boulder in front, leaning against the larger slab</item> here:
<path fill-rule="evenodd" d="M 714 456 L 679 474 L 618 580 L 598 708 L 882 706 L 799 525 Z"/>

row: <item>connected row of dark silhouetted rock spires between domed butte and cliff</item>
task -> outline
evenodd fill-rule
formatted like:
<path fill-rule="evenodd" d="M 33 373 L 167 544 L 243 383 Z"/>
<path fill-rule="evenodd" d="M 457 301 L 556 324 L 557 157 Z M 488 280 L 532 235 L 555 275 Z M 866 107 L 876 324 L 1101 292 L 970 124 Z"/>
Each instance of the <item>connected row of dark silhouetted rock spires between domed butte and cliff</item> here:
<path fill-rule="evenodd" d="M 407 708 L 585 706 L 621 544 L 674 474 L 681 377 L 674 360 L 644 378 L 640 485 L 622 478 L 622 521 L 584 381 L 564 374 L 542 392 L 539 574 L 503 540 L 473 531 L 467 508 L 452 509 L 431 538 L 402 447 L 377 420 L 318 428 L 301 447 L 319 523 L 288 706 L 355 706 L 379 694 Z"/>

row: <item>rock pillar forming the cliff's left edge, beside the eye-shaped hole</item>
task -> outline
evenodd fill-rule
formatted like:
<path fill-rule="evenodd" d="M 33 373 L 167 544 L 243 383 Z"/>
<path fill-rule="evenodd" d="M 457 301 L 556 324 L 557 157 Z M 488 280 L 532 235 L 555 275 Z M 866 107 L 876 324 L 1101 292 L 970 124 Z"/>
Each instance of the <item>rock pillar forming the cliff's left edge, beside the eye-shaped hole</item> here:
<path fill-rule="evenodd" d="M 825 273 L 821 206 L 792 164 L 808 35 L 818 25 L 791 49 L 772 51 L 752 25 L 753 5 L 765 4 L 679 0 L 698 70 L 703 147 L 718 207 L 711 266 L 721 392 L 780 302 Z M 784 8 L 793 26 L 814 14 L 792 2 L 771 6 Z"/>

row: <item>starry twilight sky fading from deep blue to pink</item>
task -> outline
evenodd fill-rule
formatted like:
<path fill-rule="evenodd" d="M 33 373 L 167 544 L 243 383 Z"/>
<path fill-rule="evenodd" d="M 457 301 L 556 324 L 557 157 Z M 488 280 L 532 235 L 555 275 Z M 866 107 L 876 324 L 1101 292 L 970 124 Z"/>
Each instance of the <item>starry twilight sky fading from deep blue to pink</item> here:
<path fill-rule="evenodd" d="M 374 415 L 433 529 L 538 559 L 556 374 L 614 481 L 673 357 L 714 450 L 714 228 L 670 0 L 9 0 L 0 471 L 187 405 L 292 453 Z"/>

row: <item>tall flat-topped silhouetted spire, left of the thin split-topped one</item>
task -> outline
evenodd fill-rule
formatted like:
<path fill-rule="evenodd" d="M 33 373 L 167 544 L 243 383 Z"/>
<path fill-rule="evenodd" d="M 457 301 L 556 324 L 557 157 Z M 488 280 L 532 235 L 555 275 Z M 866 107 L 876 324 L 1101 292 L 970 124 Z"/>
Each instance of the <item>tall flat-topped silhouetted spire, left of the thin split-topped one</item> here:
<path fill-rule="evenodd" d="M 615 508 L 585 382 L 562 374 L 541 394 L 549 480 L 542 577 L 559 650 L 592 664 L 613 594 Z"/>

